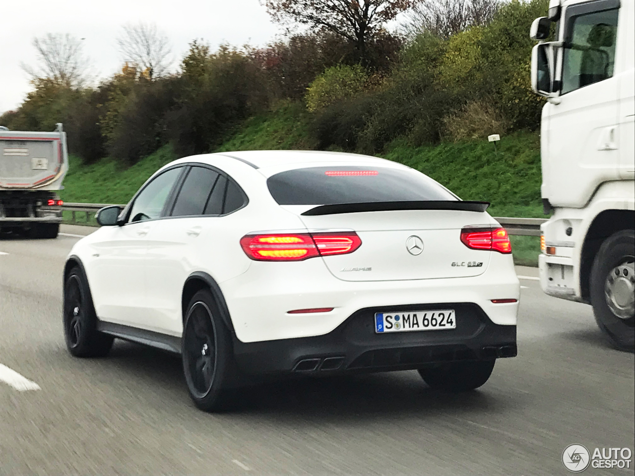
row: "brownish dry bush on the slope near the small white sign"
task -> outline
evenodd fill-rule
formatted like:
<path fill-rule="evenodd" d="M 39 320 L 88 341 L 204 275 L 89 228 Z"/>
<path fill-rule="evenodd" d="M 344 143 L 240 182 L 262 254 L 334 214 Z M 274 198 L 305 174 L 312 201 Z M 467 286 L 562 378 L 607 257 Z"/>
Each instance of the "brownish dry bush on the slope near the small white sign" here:
<path fill-rule="evenodd" d="M 443 118 L 445 138 L 461 140 L 483 139 L 491 134 L 504 134 L 508 124 L 491 102 L 474 100 L 463 109 Z"/>

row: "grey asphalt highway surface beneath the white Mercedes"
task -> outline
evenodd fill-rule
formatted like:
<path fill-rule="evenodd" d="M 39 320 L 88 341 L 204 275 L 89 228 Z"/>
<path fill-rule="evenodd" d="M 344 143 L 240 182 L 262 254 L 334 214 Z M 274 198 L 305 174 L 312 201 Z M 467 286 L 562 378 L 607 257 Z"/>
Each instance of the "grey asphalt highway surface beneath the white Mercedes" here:
<path fill-rule="evenodd" d="M 106 359 L 67 354 L 61 272 L 76 240 L 0 239 L 0 371 L 39 386 L 0 381 L 0 474 L 551 476 L 568 474 L 573 443 L 633 449 L 634 356 L 535 280 L 521 280 L 519 356 L 480 390 L 435 392 L 415 371 L 283 381 L 206 414 L 178 358 L 123 341 Z"/>

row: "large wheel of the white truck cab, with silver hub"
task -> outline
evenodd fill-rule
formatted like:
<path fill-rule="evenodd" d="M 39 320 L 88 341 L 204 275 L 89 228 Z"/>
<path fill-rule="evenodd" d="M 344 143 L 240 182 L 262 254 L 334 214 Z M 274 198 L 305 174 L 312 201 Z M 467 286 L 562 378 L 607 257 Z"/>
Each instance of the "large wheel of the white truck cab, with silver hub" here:
<path fill-rule="evenodd" d="M 635 350 L 635 232 L 608 237 L 591 268 L 591 305 L 601 331 L 613 347 Z"/>

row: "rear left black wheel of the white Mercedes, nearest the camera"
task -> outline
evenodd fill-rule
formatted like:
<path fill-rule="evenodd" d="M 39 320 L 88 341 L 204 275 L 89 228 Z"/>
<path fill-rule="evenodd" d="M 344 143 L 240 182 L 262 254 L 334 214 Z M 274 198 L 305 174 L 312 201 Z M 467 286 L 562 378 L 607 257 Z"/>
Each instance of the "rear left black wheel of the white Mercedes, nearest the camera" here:
<path fill-rule="evenodd" d="M 230 409 L 237 381 L 231 333 L 206 289 L 194 294 L 187 306 L 181 355 L 194 404 L 208 412 Z"/>

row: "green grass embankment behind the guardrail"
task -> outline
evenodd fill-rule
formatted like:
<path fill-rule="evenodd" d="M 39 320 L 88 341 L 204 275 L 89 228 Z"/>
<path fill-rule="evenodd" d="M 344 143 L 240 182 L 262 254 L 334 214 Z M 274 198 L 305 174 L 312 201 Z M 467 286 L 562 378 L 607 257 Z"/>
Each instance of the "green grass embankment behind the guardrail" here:
<path fill-rule="evenodd" d="M 269 114 L 246 121 L 217 151 L 312 149 L 308 124 L 309 116 L 302 105 L 284 103 Z M 422 171 L 464 200 L 491 202 L 488 211 L 493 216 L 544 216 L 539 138 L 535 133 L 504 136 L 497 152 L 486 140 L 423 147 L 398 140 L 378 155 Z M 62 198 L 67 202 L 126 203 L 157 168 L 175 158 L 169 146 L 127 169 L 114 159 L 85 166 L 70 157 Z M 537 262 L 537 238 L 512 237 L 512 245 L 517 263 Z"/>

